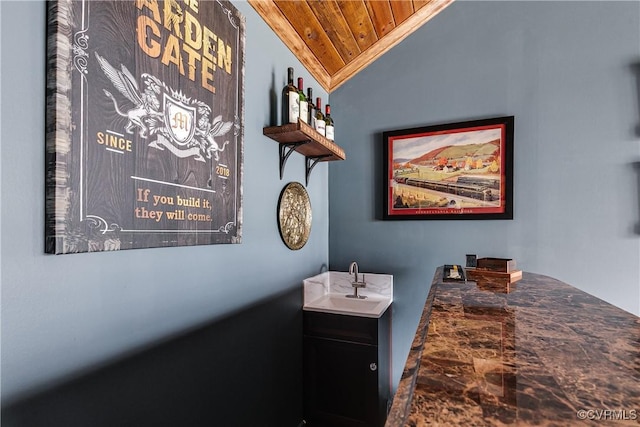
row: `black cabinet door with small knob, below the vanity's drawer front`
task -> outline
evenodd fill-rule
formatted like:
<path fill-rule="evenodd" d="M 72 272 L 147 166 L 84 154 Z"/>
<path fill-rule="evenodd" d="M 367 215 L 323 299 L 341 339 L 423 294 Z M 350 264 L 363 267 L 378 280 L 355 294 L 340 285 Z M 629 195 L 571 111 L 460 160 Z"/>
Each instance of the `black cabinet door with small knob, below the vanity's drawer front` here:
<path fill-rule="evenodd" d="M 305 418 L 312 427 L 376 427 L 378 347 L 305 336 Z"/>

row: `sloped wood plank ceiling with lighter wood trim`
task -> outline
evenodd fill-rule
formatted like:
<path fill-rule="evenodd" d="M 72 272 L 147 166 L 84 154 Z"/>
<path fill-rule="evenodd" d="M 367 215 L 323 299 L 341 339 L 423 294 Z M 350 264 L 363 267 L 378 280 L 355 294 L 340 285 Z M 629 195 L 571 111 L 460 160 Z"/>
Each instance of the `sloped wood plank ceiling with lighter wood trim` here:
<path fill-rule="evenodd" d="M 453 0 L 249 0 L 327 91 L 364 69 Z"/>

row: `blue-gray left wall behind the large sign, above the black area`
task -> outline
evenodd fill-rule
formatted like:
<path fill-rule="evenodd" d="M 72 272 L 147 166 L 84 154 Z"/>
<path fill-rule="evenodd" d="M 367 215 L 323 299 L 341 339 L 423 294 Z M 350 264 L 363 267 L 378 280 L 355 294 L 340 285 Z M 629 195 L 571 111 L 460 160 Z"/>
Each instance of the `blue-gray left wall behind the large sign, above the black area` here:
<path fill-rule="evenodd" d="M 328 264 L 328 166 L 318 165 L 307 187 L 313 207 L 309 242 L 291 251 L 278 234 L 276 208 L 287 182 L 304 183 L 304 158 L 292 155 L 281 181 L 277 144 L 262 135 L 271 124 L 272 95 L 286 84 L 287 66 L 318 96 L 327 94 L 248 3 L 235 5 L 247 28 L 242 244 L 52 256 L 43 252 L 45 3 L 0 2 L 3 403 L 301 289 L 304 278 Z M 298 302 L 287 309 L 300 310 Z M 254 320 L 260 333 L 272 324 Z M 289 328 L 301 323 L 281 320 L 277 328 L 289 339 Z M 264 354 L 267 364 L 276 357 L 275 348 L 253 348 L 247 341 L 239 334 L 218 348 L 208 343 L 213 349 L 207 351 L 223 354 L 231 346 L 245 357 L 249 351 Z M 244 386 L 249 381 L 243 375 L 237 380 Z M 299 395 L 301 388 L 292 392 Z M 251 396 L 255 401 L 236 399 L 265 406 L 259 393 Z"/>

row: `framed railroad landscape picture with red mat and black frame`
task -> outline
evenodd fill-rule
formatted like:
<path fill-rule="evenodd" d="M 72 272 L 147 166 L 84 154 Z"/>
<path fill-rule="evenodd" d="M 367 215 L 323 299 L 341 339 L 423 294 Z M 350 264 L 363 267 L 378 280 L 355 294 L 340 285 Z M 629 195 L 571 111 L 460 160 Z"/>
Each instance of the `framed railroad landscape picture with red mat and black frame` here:
<path fill-rule="evenodd" d="M 385 220 L 513 219 L 514 117 L 383 133 Z"/>

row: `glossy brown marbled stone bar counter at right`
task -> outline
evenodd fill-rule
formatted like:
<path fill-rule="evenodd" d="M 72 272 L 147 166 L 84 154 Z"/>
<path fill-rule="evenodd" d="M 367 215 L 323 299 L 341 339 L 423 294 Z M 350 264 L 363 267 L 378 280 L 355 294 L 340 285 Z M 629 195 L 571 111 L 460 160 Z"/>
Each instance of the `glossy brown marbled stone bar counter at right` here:
<path fill-rule="evenodd" d="M 439 268 L 386 423 L 426 425 L 640 425 L 640 319 L 547 276 Z"/>

